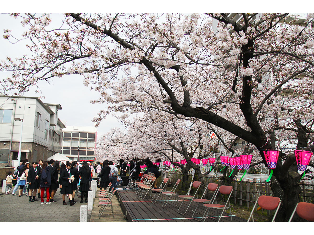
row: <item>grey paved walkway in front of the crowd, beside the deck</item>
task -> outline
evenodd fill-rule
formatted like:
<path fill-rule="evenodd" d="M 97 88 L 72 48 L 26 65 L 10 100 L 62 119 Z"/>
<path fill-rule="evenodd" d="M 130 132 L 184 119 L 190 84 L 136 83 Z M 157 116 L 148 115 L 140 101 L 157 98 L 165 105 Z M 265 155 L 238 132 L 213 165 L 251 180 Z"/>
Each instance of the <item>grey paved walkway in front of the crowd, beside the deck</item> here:
<path fill-rule="evenodd" d="M 75 200 L 77 203 L 73 206 L 70 206 L 68 203 L 68 198 L 66 198 L 67 206 L 62 204 L 62 194 L 60 189 L 57 190 L 57 194 L 54 196 L 54 199 L 57 202 L 51 202 L 51 204 L 41 205 L 40 198 L 37 198 L 39 201 L 30 202 L 29 197 L 23 195 L 21 197 L 17 195 L 13 196 L 11 190 L 10 194 L 6 195 L 2 193 L 2 187 L 0 187 L 0 222 L 79 222 L 80 217 L 80 206 L 87 205 L 85 203 L 79 203 L 80 198 L 77 198 L 75 195 Z M 99 189 L 97 190 L 97 194 Z M 89 222 L 127 222 L 124 219 L 124 215 L 119 205 L 119 202 L 116 196 L 113 196 L 113 210 L 115 213 L 115 218 L 113 218 L 111 213 L 111 208 L 106 209 L 102 217 L 98 218 L 98 196 L 94 200 L 93 211 L 89 211 L 88 221 Z M 36 213 L 36 215 L 34 214 Z M 42 217 L 41 215 L 45 215 Z"/>

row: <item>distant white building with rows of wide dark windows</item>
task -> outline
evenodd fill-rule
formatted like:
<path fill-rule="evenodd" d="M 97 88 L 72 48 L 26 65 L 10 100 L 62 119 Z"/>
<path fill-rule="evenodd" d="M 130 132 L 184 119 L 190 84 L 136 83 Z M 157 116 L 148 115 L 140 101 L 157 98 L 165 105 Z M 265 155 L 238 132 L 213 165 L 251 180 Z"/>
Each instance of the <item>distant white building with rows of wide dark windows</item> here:
<path fill-rule="evenodd" d="M 65 122 L 66 123 L 66 122 Z M 62 154 L 73 161 L 94 161 L 97 142 L 97 128 L 66 126 L 62 130 Z"/>

